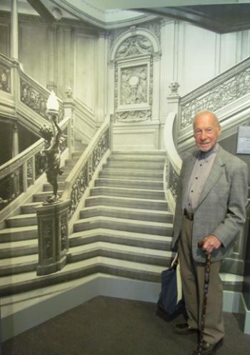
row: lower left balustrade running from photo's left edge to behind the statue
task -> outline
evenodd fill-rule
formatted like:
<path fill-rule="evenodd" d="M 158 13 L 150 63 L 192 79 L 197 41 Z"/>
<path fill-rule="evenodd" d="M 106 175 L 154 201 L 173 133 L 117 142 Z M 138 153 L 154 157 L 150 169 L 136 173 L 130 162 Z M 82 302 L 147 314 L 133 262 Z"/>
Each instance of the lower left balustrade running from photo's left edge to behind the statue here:
<path fill-rule="evenodd" d="M 61 121 L 61 129 L 68 129 L 70 119 Z M 66 149 L 67 140 L 61 146 Z M 0 166 L 0 210 L 11 204 L 19 195 L 29 189 L 36 179 L 44 173 L 45 160 L 40 152 L 44 139 L 39 139 L 29 148 L 22 151 L 13 159 Z"/>

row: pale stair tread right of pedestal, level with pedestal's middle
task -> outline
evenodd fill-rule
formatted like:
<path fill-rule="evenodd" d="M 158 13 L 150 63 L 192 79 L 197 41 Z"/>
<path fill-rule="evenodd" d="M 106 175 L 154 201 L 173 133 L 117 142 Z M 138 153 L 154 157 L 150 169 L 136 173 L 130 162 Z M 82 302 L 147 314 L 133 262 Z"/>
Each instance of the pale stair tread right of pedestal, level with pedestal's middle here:
<path fill-rule="evenodd" d="M 133 237 L 135 238 L 144 238 L 144 239 L 149 239 L 149 240 L 154 240 L 154 241 L 171 241 L 172 237 L 171 236 L 159 236 L 157 234 L 144 234 L 144 233 L 139 233 L 139 232 L 133 232 L 131 233 L 131 231 L 115 231 L 114 229 L 106 229 L 106 228 L 96 228 L 96 229 L 90 229 L 87 231 L 76 231 L 74 233 L 72 233 L 69 236 L 69 240 L 70 239 L 74 239 L 74 238 L 79 238 L 79 237 L 88 237 L 88 236 L 95 236 L 98 234 L 102 234 L 102 235 L 110 235 L 110 236 L 117 236 L 119 238 L 119 236 L 125 236 L 125 237 Z"/>

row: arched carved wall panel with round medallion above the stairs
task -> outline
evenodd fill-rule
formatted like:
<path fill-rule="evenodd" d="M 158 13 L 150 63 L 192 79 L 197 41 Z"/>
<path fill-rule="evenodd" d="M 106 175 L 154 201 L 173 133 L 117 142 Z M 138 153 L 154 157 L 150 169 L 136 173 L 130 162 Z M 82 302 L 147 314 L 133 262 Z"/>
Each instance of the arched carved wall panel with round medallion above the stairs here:
<path fill-rule="evenodd" d="M 115 56 L 115 119 L 138 123 L 151 119 L 153 54 L 146 36 L 132 35 L 121 42 Z"/>

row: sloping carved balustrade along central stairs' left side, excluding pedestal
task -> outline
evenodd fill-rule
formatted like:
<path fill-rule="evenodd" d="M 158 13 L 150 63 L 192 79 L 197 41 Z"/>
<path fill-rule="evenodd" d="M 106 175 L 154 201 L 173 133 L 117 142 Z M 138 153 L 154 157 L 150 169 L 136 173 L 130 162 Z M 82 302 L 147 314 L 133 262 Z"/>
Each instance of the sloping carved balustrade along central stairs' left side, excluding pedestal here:
<path fill-rule="evenodd" d="M 65 189 L 61 199 L 70 200 L 69 218 L 76 211 L 79 201 L 89 186 L 89 182 L 101 159 L 103 159 L 106 151 L 111 148 L 111 126 L 111 119 L 107 116 L 81 158 L 77 161 L 74 169 L 66 178 Z"/>

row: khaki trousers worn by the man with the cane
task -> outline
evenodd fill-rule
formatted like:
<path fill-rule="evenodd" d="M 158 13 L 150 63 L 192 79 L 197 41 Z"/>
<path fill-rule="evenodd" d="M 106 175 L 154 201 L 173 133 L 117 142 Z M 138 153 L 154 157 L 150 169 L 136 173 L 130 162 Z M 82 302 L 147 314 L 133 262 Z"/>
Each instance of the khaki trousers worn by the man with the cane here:
<path fill-rule="evenodd" d="M 200 329 L 204 295 L 205 264 L 197 263 L 193 259 L 191 251 L 192 228 L 193 222 L 184 216 L 181 236 L 179 239 L 179 263 L 188 324 L 192 328 Z M 216 261 L 211 264 L 210 268 L 204 328 L 204 341 L 207 341 L 210 344 L 215 344 L 224 337 L 222 312 L 223 289 L 219 276 L 220 264 L 220 261 Z"/>

